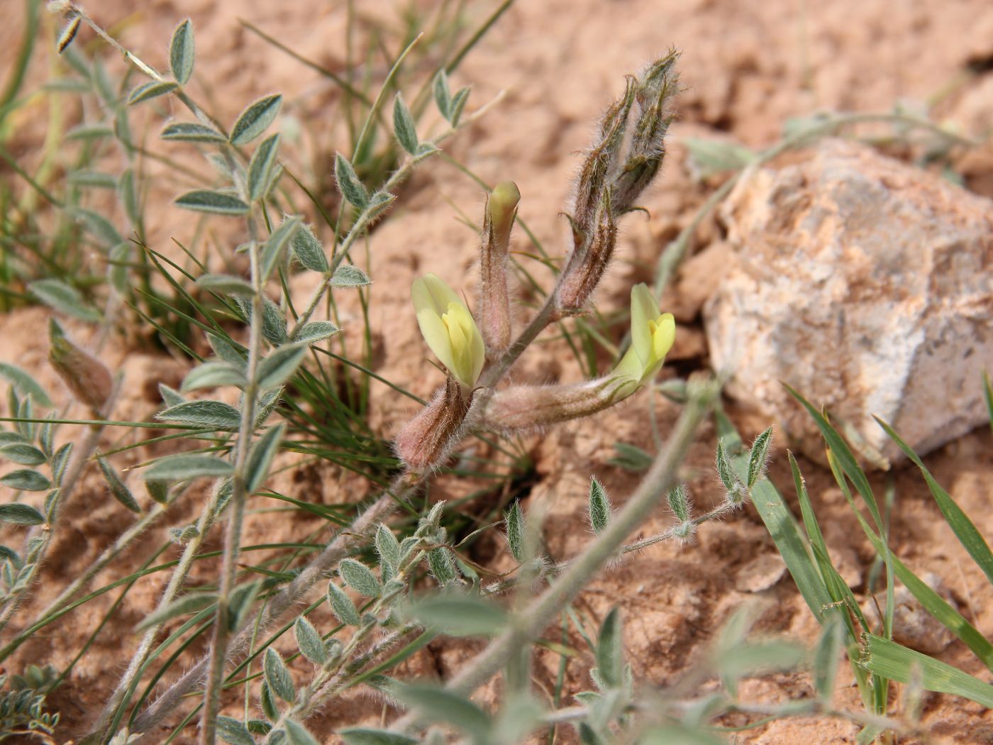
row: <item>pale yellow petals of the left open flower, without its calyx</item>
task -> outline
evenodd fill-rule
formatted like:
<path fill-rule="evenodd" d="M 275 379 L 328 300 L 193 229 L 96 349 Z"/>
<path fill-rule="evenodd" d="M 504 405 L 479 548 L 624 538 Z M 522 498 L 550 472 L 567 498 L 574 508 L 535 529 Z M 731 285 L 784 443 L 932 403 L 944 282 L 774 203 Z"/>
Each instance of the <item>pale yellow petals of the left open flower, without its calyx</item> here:
<path fill-rule="evenodd" d="M 410 295 L 424 341 L 456 380 L 472 388 L 483 371 L 486 348 L 469 308 L 435 274 L 415 279 Z"/>

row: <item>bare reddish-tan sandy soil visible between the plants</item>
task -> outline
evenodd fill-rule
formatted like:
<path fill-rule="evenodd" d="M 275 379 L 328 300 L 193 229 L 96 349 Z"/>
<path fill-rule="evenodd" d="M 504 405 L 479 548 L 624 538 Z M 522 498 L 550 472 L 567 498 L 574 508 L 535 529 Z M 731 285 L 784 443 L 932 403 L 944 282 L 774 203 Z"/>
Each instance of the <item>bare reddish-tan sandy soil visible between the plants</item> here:
<path fill-rule="evenodd" d="M 388 2 L 357 3 L 362 13 L 392 18 Z M 471 4 L 478 23 L 495 3 Z M 92 0 L 88 12 L 106 25 L 125 20 L 121 5 Z M 15 10 L 15 19 L 19 10 Z M 343 4 L 268 3 L 260 0 L 156 0 L 141 14 L 128 17 L 122 39 L 130 48 L 147 51 L 147 59 L 166 67 L 166 48 L 172 28 L 184 17 L 193 18 L 198 38 L 199 92 L 213 102 L 215 113 L 232 119 L 242 105 L 257 95 L 280 90 L 287 99 L 285 111 L 299 123 L 303 135 L 288 151 L 303 172 L 317 179 L 330 173 L 330 153 L 335 135 L 323 129 L 337 96 L 330 84 L 312 71 L 267 46 L 238 26 L 250 19 L 300 54 L 340 67 L 344 59 L 345 12 Z M 18 24 L 0 27 L 0 61 L 9 55 Z M 80 42 L 89 41 L 83 34 Z M 718 182 L 697 183 L 687 167 L 679 144 L 684 136 L 730 137 L 753 147 L 775 142 L 784 120 L 818 109 L 878 111 L 903 99 L 924 100 L 940 96 L 938 113 L 966 133 L 981 136 L 993 121 L 993 74 L 963 76 L 971 66 L 989 71 L 993 61 L 993 8 L 985 0 L 954 4 L 937 0 L 908 2 L 895 7 L 886 0 L 838 0 L 807 3 L 803 0 L 773 2 L 718 2 L 698 0 L 519 0 L 499 21 L 453 75 L 454 84 L 471 83 L 470 109 L 491 100 L 500 90 L 505 96 L 471 130 L 447 148 L 451 154 L 493 183 L 513 179 L 523 201 L 520 216 L 551 252 L 560 250 L 565 228 L 557 216 L 565 205 L 570 180 L 577 167 L 577 151 L 588 141 L 592 122 L 615 95 L 623 75 L 638 68 L 670 46 L 683 51 L 679 121 L 673 127 L 671 154 L 663 175 L 644 199 L 650 218 L 633 216 L 624 225 L 619 260 L 599 295 L 605 310 L 626 302 L 633 281 L 649 276 L 659 251 L 706 199 Z M 0 65 L 0 69 L 3 65 Z M 32 71 L 41 79 L 44 66 Z M 40 134 L 24 122 L 26 148 Z M 988 132 L 988 130 L 987 130 Z M 37 134 L 37 137 L 35 135 Z M 30 149 L 30 148 L 28 148 Z M 318 157 L 315 153 L 323 153 Z M 309 169 L 306 164 L 309 164 Z M 971 153 L 962 160 L 967 184 L 993 196 L 993 151 Z M 13 178 L 0 171 L 3 178 Z M 178 185 L 164 183 L 165 197 Z M 167 202 L 164 200 L 163 202 Z M 464 175 L 442 160 L 426 164 L 405 189 L 392 219 L 377 229 L 369 243 L 369 273 L 375 280 L 372 326 L 381 335 L 382 356 L 377 373 L 395 379 L 415 393 L 427 395 L 440 382 L 439 373 L 422 363 L 423 343 L 409 311 L 410 281 L 419 273 L 434 271 L 455 287 L 471 290 L 475 281 L 475 233 L 457 220 L 456 208 L 470 216 L 480 213 L 482 193 Z M 189 237 L 189 221 L 171 206 L 157 207 L 150 215 L 149 242 L 168 246 L 171 237 Z M 222 237 L 222 233 L 217 233 Z M 706 221 L 694 243 L 700 251 L 721 239 L 720 225 Z M 523 238 L 517 246 L 525 248 Z M 539 278 L 547 278 L 540 271 Z M 698 310 L 705 274 L 697 273 L 677 284 L 667 301 L 679 308 L 680 341 L 673 359 L 680 373 L 704 368 L 706 348 Z M 297 297 L 306 297 L 313 279 L 306 275 L 293 282 Z M 63 391 L 45 363 L 46 349 L 39 330 L 46 313 L 27 309 L 0 318 L 4 340 L 0 359 L 37 373 L 50 389 Z M 618 330 L 618 335 L 622 330 Z M 175 384 L 182 368 L 172 361 L 136 354 L 121 339 L 111 342 L 107 359 L 124 370 L 130 387 L 117 418 L 146 418 L 157 406 L 154 383 Z M 579 373 L 568 356 L 555 345 L 533 350 L 514 373 L 519 380 L 575 379 Z M 667 374 L 672 374 L 667 373 Z M 409 400 L 386 388 L 377 390 L 376 423 L 386 433 L 412 412 Z M 641 393 L 621 409 L 561 427 L 530 443 L 538 464 L 539 481 L 526 505 L 541 503 L 549 515 L 547 541 L 556 557 L 567 557 L 587 540 L 585 492 L 591 474 L 603 481 L 616 503 L 637 483 L 637 478 L 608 464 L 613 445 L 621 440 L 651 447 L 647 407 L 655 405 L 664 432 L 677 409 L 664 399 L 650 401 Z M 744 409 L 732 409 L 748 435 L 768 422 Z M 118 435 L 111 438 L 116 441 Z M 993 535 L 989 511 L 989 483 L 993 479 L 993 442 L 986 429 L 977 430 L 926 459 L 935 474 L 979 529 Z M 704 428 L 686 464 L 685 478 L 700 509 L 719 499 L 709 464 L 713 459 L 714 433 Z M 145 459 L 154 453 L 141 452 Z M 773 454 L 772 478 L 787 496 L 791 493 L 785 452 Z M 137 460 L 135 457 L 134 460 Z M 133 462 L 133 461 L 132 461 Z M 128 465 L 126 460 L 120 466 Z M 830 475 L 819 466 L 801 461 L 808 487 L 831 549 L 846 579 L 863 591 L 872 552 L 861 539 Z M 318 477 L 321 478 L 321 472 Z M 914 568 L 943 578 L 954 599 L 983 633 L 993 634 L 993 590 L 954 541 L 917 474 L 899 470 L 877 475 L 880 493 L 892 486 L 896 494 L 893 545 Z M 99 478 L 90 474 L 86 486 L 67 509 L 65 531 L 43 572 L 38 597 L 27 607 L 41 607 L 61 582 L 71 577 L 80 562 L 88 563 L 122 529 L 130 517 L 106 499 Z M 321 502 L 343 500 L 340 484 L 324 478 L 299 487 L 305 499 Z M 447 487 L 441 485 L 439 493 Z M 168 524 L 183 524 L 199 509 L 201 495 L 177 508 Z M 647 535 L 670 521 L 659 514 L 643 527 Z M 299 537 L 314 524 L 249 522 L 246 538 Z M 164 528 L 163 528 L 164 529 Z M 9 532 L 9 531 L 5 531 Z M 153 532 L 148 545 L 163 534 Z M 8 536 L 8 539 L 13 539 Z M 214 547 L 209 546 L 209 547 Z M 496 566 L 501 554 L 491 549 Z M 162 558 L 176 553 L 170 549 Z M 97 577 L 104 584 L 133 570 L 146 560 L 142 548 L 118 566 Z M 207 581 L 198 571 L 195 581 Z M 85 730 L 98 710 L 117 673 L 130 658 L 136 637 L 133 625 L 154 607 L 163 578 L 155 575 L 138 583 L 123 607 L 96 637 L 86 656 L 66 684 L 52 697 L 63 712 L 61 737 Z M 114 600 L 110 593 L 71 614 L 44 636 L 26 645 L 8 663 L 9 670 L 32 662 L 68 664 L 82 641 L 96 629 Z M 686 545 L 662 545 L 646 550 L 594 583 L 581 598 L 581 607 L 599 619 L 615 604 L 625 610 L 629 627 L 627 652 L 636 676 L 646 682 L 666 684 L 698 661 L 722 622 L 742 603 L 759 609 L 757 629 L 783 633 L 812 642 L 817 627 L 803 606 L 788 576 L 783 577 L 776 550 L 758 515 L 751 508 L 740 516 L 701 528 L 698 539 Z M 582 647 L 580 640 L 575 640 Z M 465 660 L 465 645 L 432 645 L 411 664 L 412 671 L 447 673 Z M 961 644 L 952 644 L 939 659 L 989 679 L 988 671 Z M 536 681 L 549 690 L 554 684 L 557 658 L 539 656 Z M 571 664 L 566 690 L 589 685 L 592 661 Z M 842 669 L 844 670 L 844 668 Z M 750 683 L 744 693 L 757 700 L 775 701 L 809 696 L 812 687 L 803 674 L 772 675 Z M 487 695 L 492 695 L 490 690 Z M 836 691 L 840 706 L 858 708 L 850 674 L 843 672 Z M 331 731 L 356 717 L 375 720 L 382 704 L 357 694 L 346 705 L 314 720 L 316 732 Z M 728 717 L 729 726 L 748 723 L 744 715 Z M 949 696 L 926 699 L 924 722 L 935 741 L 993 742 L 993 716 L 981 706 Z M 735 735 L 736 742 L 842 743 L 854 742 L 855 728 L 828 719 L 781 720 Z M 569 741 L 563 733 L 561 742 Z M 188 742 L 180 738 L 175 742 Z M 327 742 L 335 742 L 329 735 Z"/>

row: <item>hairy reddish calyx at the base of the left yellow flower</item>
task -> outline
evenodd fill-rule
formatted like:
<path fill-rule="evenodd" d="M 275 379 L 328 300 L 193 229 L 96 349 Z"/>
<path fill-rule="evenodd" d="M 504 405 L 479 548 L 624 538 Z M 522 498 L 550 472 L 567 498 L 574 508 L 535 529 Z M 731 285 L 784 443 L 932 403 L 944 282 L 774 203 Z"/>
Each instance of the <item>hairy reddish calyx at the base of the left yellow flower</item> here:
<path fill-rule="evenodd" d="M 449 377 L 427 406 L 400 430 L 394 449 L 414 471 L 439 467 L 462 440 L 474 393 L 463 395 L 460 384 Z"/>

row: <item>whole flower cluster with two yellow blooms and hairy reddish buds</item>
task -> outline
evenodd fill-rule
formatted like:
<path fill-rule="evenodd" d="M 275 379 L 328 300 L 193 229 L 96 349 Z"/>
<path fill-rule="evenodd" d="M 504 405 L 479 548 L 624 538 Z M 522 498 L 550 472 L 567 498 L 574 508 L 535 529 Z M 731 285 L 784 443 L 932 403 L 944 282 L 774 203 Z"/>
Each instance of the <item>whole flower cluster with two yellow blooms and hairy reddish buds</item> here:
<path fill-rule="evenodd" d="M 630 77 L 624 95 L 604 114 L 576 184 L 569 215 L 569 255 L 543 315 L 538 316 L 545 323 L 583 312 L 614 255 L 618 219 L 635 208 L 638 195 L 661 165 L 672 118 L 668 106 L 676 87 L 677 57 L 670 53 L 638 77 Z M 639 284 L 631 296 L 631 348 L 611 373 L 570 385 L 496 389 L 509 364 L 534 338 L 525 333 L 523 341 L 513 342 L 509 247 L 519 201 L 520 192 L 512 182 L 498 184 L 487 200 L 479 325 L 465 301 L 440 277 L 428 274 L 413 284 L 418 326 L 448 377 L 396 437 L 396 453 L 411 471 L 440 466 L 476 427 L 523 431 L 612 406 L 654 378 L 675 340 L 672 314 L 660 313 L 651 291 Z M 529 329 L 533 328 L 532 324 Z"/>

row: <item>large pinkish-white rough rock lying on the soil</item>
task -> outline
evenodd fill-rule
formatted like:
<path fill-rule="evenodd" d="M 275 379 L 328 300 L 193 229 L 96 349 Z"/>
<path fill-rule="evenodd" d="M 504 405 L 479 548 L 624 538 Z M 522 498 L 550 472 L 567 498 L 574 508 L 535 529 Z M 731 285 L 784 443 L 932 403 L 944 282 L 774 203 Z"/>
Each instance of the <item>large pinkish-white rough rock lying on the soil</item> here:
<path fill-rule="evenodd" d="M 993 370 L 993 202 L 872 148 L 825 140 L 729 197 L 733 265 L 704 308 L 728 390 L 808 454 L 826 406 L 870 462 L 919 453 L 985 421 Z"/>

